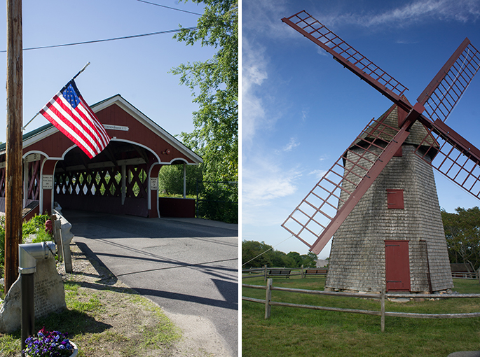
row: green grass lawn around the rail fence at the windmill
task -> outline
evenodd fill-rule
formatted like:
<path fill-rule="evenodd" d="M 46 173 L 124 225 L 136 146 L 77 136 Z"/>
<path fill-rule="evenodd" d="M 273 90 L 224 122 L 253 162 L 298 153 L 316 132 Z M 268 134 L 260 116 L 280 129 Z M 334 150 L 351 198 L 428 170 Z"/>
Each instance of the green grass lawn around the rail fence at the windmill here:
<path fill-rule="evenodd" d="M 273 286 L 323 290 L 324 277 L 275 278 Z M 263 278 L 243 283 L 265 285 Z M 453 279 L 458 293 L 480 293 L 477 280 Z M 265 290 L 242 288 L 242 295 L 265 299 Z M 380 311 L 380 301 L 272 291 L 272 300 L 296 304 Z M 425 314 L 479 312 L 480 299 L 385 302 L 385 311 Z M 385 318 L 294 307 L 271 308 L 242 301 L 242 357 L 266 356 L 448 356 L 480 350 L 480 318 Z"/>

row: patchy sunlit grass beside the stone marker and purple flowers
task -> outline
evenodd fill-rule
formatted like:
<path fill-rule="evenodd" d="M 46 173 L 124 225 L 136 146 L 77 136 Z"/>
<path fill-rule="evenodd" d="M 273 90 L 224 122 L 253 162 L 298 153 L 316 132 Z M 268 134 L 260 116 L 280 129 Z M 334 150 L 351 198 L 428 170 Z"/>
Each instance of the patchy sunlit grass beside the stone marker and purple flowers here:
<path fill-rule="evenodd" d="M 93 285 L 93 284 L 90 284 Z M 36 329 L 68 332 L 69 338 L 79 346 L 78 357 L 87 356 L 151 356 L 152 351 L 164 351 L 181 338 L 181 331 L 164 314 L 158 305 L 128 288 L 97 286 L 97 290 L 82 289 L 83 283 L 64 282 L 67 309 L 59 314 L 50 314 L 35 321 Z M 118 314 L 137 314 L 135 309 L 120 309 L 110 312 L 111 304 L 116 307 L 135 307 L 139 311 L 150 311 L 146 321 L 134 321 L 131 326 L 118 329 L 103 320 Z M 135 318 L 134 315 L 134 318 Z M 10 334 L 0 333 L 0 356 L 20 356 L 20 330 Z"/>

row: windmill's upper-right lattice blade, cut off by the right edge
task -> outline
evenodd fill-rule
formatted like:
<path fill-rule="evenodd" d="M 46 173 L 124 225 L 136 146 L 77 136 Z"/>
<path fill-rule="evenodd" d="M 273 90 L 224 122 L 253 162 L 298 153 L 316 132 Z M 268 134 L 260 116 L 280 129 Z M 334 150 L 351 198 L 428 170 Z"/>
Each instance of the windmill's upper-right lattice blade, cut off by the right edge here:
<path fill-rule="evenodd" d="M 427 116 L 445 122 L 479 69 L 480 52 L 465 38 L 417 99 Z"/>

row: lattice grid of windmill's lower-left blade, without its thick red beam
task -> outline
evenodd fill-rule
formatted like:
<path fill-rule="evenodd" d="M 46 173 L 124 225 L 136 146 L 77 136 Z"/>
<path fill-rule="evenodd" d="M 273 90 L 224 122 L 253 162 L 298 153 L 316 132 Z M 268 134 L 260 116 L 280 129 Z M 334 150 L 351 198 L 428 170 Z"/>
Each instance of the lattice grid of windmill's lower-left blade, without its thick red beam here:
<path fill-rule="evenodd" d="M 385 117 L 383 117 L 385 118 Z M 341 155 L 322 179 L 310 190 L 282 227 L 303 241 L 317 239 L 329 225 L 358 183 L 392 141 L 398 128 L 373 119 Z M 301 237 L 300 237 L 301 236 Z"/>

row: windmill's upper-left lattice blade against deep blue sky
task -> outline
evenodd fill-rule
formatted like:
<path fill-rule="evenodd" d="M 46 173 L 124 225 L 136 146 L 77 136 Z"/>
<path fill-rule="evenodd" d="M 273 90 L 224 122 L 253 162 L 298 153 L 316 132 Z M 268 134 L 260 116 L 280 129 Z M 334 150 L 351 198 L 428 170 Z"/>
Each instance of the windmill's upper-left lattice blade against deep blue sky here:
<path fill-rule="evenodd" d="M 345 68 L 355 73 L 359 78 L 369 83 L 372 87 L 378 90 L 380 93 L 388 97 L 392 102 L 397 104 L 405 111 L 409 111 L 411 106 L 406 104 L 402 99 L 402 94 L 408 88 L 406 88 L 398 80 L 395 80 L 387 72 L 380 69 L 373 62 L 367 59 L 360 52 L 348 45 L 340 37 L 327 29 L 322 23 L 313 18 L 305 10 L 289 18 L 282 18 L 282 21 L 299 31 L 299 33 L 306 36 L 310 41 L 313 41 L 321 48 L 329 52 L 334 56 L 338 62 L 343 64 Z"/>

